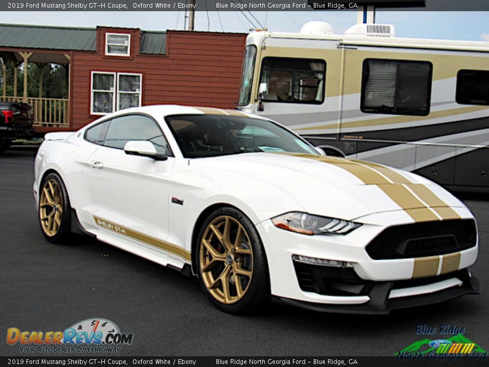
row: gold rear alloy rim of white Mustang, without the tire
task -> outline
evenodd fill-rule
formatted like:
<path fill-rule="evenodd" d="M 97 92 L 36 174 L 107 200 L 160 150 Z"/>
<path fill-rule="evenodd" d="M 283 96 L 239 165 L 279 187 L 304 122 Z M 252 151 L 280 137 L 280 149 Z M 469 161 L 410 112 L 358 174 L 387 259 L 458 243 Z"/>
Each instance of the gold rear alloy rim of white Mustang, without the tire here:
<path fill-rule="evenodd" d="M 49 237 L 58 233 L 63 218 L 63 194 L 59 183 L 52 178 L 44 183 L 41 190 L 39 218 L 42 230 Z"/>

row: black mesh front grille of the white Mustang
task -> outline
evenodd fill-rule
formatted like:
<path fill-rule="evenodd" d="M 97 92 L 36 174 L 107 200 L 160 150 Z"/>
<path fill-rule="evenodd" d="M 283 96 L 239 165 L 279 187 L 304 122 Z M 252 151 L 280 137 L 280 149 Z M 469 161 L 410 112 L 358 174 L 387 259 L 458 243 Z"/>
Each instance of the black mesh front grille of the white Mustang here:
<path fill-rule="evenodd" d="M 375 260 L 443 255 L 474 247 L 477 230 L 472 219 L 444 220 L 384 229 L 365 248 Z"/>

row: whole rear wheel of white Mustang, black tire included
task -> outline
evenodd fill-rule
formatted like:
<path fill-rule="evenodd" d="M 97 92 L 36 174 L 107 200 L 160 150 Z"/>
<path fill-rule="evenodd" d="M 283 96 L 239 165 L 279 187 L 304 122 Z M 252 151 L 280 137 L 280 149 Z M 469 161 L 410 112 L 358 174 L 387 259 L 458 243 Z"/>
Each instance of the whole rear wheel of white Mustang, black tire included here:
<path fill-rule="evenodd" d="M 71 205 L 57 173 L 48 174 L 39 190 L 39 224 L 46 240 L 61 243 L 71 235 Z"/>

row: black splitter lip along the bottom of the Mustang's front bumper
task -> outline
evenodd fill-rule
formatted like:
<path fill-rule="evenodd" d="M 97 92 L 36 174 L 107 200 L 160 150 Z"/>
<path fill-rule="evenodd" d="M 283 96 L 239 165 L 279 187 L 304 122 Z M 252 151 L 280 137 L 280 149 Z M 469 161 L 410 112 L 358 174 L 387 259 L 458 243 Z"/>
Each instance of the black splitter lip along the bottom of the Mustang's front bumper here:
<path fill-rule="evenodd" d="M 337 312 L 337 313 L 359 313 L 359 314 L 387 314 L 393 309 L 416 307 L 448 301 L 468 294 L 479 294 L 479 281 L 471 277 L 467 270 L 454 274 L 454 279 L 460 280 L 458 285 L 453 285 L 438 292 L 418 294 L 411 297 L 397 297 L 402 295 L 403 289 L 393 290 L 395 282 L 376 282 L 367 296 L 369 301 L 363 304 L 335 305 L 307 302 L 296 299 L 273 297 L 274 302 L 284 303 L 292 306 L 302 307 L 313 311 Z M 449 279 L 447 279 L 449 280 Z"/>

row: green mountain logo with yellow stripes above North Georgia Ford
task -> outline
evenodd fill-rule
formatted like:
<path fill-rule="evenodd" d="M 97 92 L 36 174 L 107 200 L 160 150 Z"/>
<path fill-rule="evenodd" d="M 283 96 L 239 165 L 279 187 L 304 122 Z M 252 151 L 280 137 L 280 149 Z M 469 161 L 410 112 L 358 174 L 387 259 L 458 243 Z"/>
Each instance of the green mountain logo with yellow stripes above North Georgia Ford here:
<path fill-rule="evenodd" d="M 469 353 L 486 353 L 485 350 L 483 350 L 478 344 L 472 342 L 472 340 L 469 340 L 462 334 L 454 335 L 452 337 L 449 337 L 447 339 L 443 340 L 444 342 L 449 342 L 446 343 L 446 347 L 443 348 L 443 345 L 436 346 L 436 347 L 431 347 L 430 343 L 433 342 L 433 340 L 430 339 L 423 339 L 423 340 L 418 340 L 418 342 L 414 342 L 408 347 L 405 347 L 401 351 L 395 353 L 394 355 L 402 355 L 402 354 L 411 354 L 411 353 L 416 353 L 416 354 L 428 354 L 429 352 L 433 353 L 464 353 L 466 350 L 470 350 Z M 472 346 L 473 345 L 473 346 Z M 451 349 L 450 347 L 453 346 L 453 348 L 457 348 L 457 346 L 460 346 L 457 349 Z M 467 346 L 467 348 L 465 347 Z M 455 352 L 456 351 L 456 352 Z"/>

